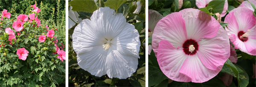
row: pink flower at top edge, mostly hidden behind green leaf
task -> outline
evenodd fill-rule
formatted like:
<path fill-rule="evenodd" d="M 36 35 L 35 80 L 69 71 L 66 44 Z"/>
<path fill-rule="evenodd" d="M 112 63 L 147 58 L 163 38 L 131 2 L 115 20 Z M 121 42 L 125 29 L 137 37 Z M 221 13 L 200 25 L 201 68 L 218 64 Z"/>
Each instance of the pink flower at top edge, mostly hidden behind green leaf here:
<path fill-rule="evenodd" d="M 207 5 L 211 2 L 212 0 L 195 0 L 195 5 L 198 7 L 198 8 L 204 8 L 204 7 L 207 7 Z M 221 17 L 224 17 L 227 13 L 227 7 L 228 7 L 228 3 L 227 3 L 227 0 L 225 0 L 225 3 L 224 3 L 224 8 L 223 8 L 223 11 L 221 13 Z"/>

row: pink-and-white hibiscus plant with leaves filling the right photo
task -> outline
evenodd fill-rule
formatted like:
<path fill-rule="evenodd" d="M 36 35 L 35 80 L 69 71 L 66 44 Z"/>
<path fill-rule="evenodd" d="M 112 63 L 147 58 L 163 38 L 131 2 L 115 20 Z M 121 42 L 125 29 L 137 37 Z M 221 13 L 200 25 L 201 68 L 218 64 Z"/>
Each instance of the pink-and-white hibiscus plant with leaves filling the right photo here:
<path fill-rule="evenodd" d="M 255 5 L 255 0 L 149 0 L 148 86 L 255 86 Z M 218 39 L 207 43 L 214 29 L 217 35 L 207 40 Z"/>

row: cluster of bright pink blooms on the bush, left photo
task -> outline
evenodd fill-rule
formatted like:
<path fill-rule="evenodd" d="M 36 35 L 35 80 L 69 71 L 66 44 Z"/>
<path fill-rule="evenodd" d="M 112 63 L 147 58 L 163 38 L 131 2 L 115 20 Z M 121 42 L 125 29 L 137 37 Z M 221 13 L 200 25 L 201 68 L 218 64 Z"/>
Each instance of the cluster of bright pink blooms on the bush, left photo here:
<path fill-rule="evenodd" d="M 38 18 L 38 13 L 41 11 L 41 9 L 36 7 L 36 4 L 33 5 L 32 7 L 33 7 L 32 14 L 29 14 L 29 15 L 19 14 L 16 17 L 17 19 L 14 22 L 11 22 L 12 26 L 5 28 L 5 33 L 6 33 L 5 35 L 9 36 L 9 38 L 8 38 L 9 44 L 14 45 L 17 42 L 17 45 L 19 45 L 20 43 L 18 43 L 18 42 L 20 42 L 20 40 L 17 40 L 17 39 L 25 39 L 25 38 L 31 39 L 31 37 L 37 38 L 38 36 L 35 33 L 42 32 L 42 34 L 39 35 L 39 37 L 38 37 L 38 41 L 40 43 L 44 43 L 45 41 L 52 40 L 51 45 L 54 45 L 56 47 L 56 49 L 54 48 L 55 51 L 52 51 L 52 52 L 55 54 L 57 53 L 59 55 L 59 56 L 57 56 L 58 59 L 60 59 L 63 62 L 63 59 L 65 60 L 65 51 L 63 51 L 64 45 L 61 43 L 62 46 L 60 47 L 61 48 L 61 50 L 60 50 L 57 45 L 58 39 L 57 39 L 57 37 L 54 36 L 56 28 L 52 28 L 51 30 L 48 31 L 48 30 L 46 30 L 46 29 L 49 29 L 48 25 L 46 25 L 46 27 L 42 27 L 41 21 Z M 7 10 L 4 10 L 1 15 L 1 25 L 8 22 L 8 19 L 6 19 L 6 18 L 10 19 L 11 14 L 7 13 Z M 3 26 L 1 26 L 1 28 L 3 28 Z M 35 30 L 32 30 L 32 28 L 35 28 Z M 44 29 L 44 28 L 46 28 L 46 29 Z M 14 29 L 15 31 L 13 31 L 12 29 Z M 47 34 L 45 34 L 45 32 L 43 30 L 47 31 Z M 33 33 L 33 35 L 31 33 Z M 17 34 L 17 36 L 15 36 L 15 34 Z M 29 35 L 32 35 L 32 36 L 29 36 Z M 5 45 L 6 44 L 3 40 L 3 42 L 1 43 L 1 47 L 3 46 L 3 48 L 5 48 Z M 15 45 L 15 46 L 17 46 L 17 45 Z M 47 46 L 46 43 L 44 43 L 44 45 Z M 50 46 L 50 45 L 48 44 L 48 46 Z M 19 47 L 17 47 L 17 48 L 19 48 Z M 16 54 L 19 57 L 19 59 L 26 60 L 26 58 L 29 55 L 31 55 L 30 52 L 26 50 L 27 48 L 28 47 L 17 49 Z M 44 47 L 44 50 L 48 50 L 48 48 Z"/>

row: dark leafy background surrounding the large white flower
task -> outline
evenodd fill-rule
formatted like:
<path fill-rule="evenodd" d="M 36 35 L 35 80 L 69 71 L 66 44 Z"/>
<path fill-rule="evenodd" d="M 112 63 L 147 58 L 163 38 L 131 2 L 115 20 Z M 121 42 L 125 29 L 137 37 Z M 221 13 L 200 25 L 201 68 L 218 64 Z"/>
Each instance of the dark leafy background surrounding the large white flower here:
<path fill-rule="evenodd" d="M 79 7 L 83 6 L 83 7 Z M 110 79 L 107 75 L 97 77 L 81 69 L 77 64 L 76 52 L 72 46 L 72 34 L 76 25 L 90 19 L 93 11 L 108 6 L 122 13 L 126 21 L 133 24 L 140 34 L 140 59 L 137 71 L 127 79 Z M 138 6 L 138 7 L 137 7 Z M 69 86 L 135 86 L 145 87 L 145 0 L 69 0 Z"/>

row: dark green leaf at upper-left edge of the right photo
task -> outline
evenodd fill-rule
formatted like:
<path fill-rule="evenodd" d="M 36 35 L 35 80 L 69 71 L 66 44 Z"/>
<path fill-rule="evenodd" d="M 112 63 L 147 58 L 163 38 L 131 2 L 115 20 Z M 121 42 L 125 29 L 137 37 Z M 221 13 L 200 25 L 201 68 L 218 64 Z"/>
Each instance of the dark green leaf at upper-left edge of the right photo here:
<path fill-rule="evenodd" d="M 148 9 L 148 30 L 154 32 L 157 22 L 163 18 L 163 15 L 155 10 Z"/>

